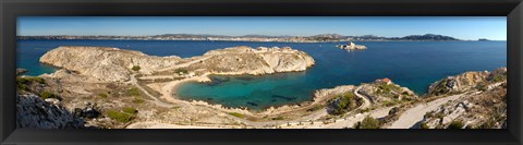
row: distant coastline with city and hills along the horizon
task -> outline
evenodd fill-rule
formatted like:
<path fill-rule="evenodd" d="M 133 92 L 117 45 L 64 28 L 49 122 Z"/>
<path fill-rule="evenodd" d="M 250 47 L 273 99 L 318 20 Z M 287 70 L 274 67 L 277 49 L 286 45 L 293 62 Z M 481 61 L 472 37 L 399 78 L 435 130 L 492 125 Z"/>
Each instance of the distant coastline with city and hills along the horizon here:
<path fill-rule="evenodd" d="M 375 35 L 343 36 L 325 34 L 314 36 L 265 36 L 265 35 L 194 35 L 194 34 L 165 34 L 154 36 L 19 36 L 17 39 L 95 39 L 95 40 L 211 40 L 211 41 L 270 41 L 270 43 L 336 43 L 336 41 L 476 41 L 463 40 L 450 36 L 425 34 L 404 37 L 382 37 Z"/>

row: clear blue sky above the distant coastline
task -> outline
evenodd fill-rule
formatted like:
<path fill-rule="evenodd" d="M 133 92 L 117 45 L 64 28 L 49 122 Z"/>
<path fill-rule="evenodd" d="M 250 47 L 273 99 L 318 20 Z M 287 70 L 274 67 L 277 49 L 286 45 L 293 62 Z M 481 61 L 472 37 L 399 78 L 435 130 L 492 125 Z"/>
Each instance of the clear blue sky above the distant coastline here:
<path fill-rule="evenodd" d="M 19 36 L 161 34 L 312 36 L 439 34 L 507 40 L 506 16 L 21 16 Z"/>

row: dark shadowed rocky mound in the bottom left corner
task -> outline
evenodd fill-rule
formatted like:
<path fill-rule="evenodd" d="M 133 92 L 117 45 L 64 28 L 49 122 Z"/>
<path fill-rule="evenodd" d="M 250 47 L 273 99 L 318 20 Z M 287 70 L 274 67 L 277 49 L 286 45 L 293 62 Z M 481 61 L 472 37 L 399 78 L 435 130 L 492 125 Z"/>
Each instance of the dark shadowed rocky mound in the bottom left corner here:
<path fill-rule="evenodd" d="M 46 102 L 34 94 L 16 96 L 16 128 L 19 129 L 81 129 L 84 121 L 74 117 L 56 100 Z"/>

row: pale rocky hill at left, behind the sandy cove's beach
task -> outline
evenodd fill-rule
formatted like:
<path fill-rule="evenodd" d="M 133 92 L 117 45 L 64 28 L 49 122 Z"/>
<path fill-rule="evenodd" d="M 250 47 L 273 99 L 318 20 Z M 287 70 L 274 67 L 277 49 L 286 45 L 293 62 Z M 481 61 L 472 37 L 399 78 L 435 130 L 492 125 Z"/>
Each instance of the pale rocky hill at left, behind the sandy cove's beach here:
<path fill-rule="evenodd" d="M 150 74 L 155 70 L 177 64 L 179 57 L 155 57 L 139 51 L 107 47 L 65 46 L 52 49 L 40 62 L 92 76 L 99 81 L 126 81 L 133 67 Z"/>

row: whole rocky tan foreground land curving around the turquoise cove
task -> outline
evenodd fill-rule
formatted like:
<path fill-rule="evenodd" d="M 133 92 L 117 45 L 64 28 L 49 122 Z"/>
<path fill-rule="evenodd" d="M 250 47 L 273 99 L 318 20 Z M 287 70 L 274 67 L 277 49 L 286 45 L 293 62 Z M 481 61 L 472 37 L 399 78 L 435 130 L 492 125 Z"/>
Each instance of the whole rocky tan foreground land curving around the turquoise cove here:
<path fill-rule="evenodd" d="M 210 74 L 305 71 L 314 59 L 289 47 L 240 46 L 180 58 L 69 46 L 48 51 L 40 62 L 61 70 L 17 77 L 19 128 L 499 129 L 507 119 L 506 68 L 449 76 L 421 96 L 384 77 L 318 89 L 299 105 L 252 111 L 181 100 L 173 90 L 182 82 L 210 81 Z M 42 118 L 56 121 L 32 123 Z"/>

